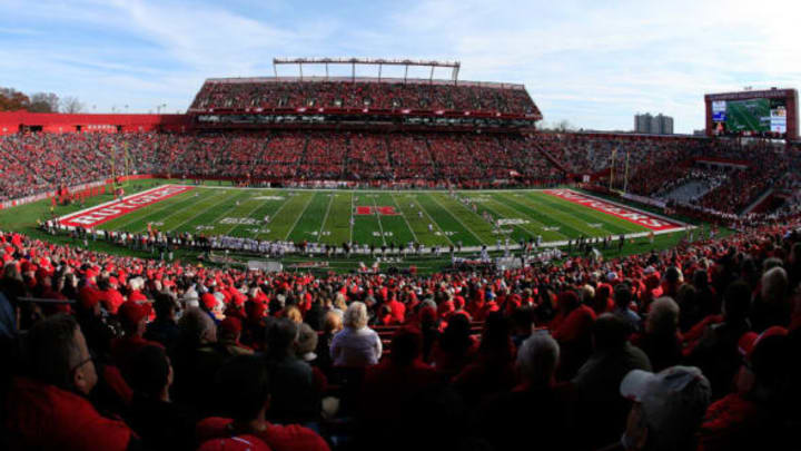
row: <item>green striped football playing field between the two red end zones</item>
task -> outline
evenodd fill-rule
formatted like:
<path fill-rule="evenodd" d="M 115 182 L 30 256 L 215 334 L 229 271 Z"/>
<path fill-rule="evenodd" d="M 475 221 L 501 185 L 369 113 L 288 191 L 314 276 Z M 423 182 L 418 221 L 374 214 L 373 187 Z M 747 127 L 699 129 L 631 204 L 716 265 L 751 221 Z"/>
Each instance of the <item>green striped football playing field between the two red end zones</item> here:
<path fill-rule="evenodd" d="M 475 205 L 475 208 L 473 207 Z M 268 222 L 265 217 L 268 216 Z M 541 236 L 564 242 L 647 233 L 639 224 L 541 190 L 369 192 L 197 186 L 97 228 L 342 245 L 465 247 Z"/>

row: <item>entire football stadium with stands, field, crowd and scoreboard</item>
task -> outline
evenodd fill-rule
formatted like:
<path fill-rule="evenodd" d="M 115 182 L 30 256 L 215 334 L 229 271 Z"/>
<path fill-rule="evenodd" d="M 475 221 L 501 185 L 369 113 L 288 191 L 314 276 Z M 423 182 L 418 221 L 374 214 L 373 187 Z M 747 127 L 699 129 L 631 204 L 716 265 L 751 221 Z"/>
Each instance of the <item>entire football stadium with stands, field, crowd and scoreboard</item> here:
<path fill-rule="evenodd" d="M 0 90 L 0 448 L 794 448 L 795 89 L 650 135 L 271 62 L 178 114 Z"/>

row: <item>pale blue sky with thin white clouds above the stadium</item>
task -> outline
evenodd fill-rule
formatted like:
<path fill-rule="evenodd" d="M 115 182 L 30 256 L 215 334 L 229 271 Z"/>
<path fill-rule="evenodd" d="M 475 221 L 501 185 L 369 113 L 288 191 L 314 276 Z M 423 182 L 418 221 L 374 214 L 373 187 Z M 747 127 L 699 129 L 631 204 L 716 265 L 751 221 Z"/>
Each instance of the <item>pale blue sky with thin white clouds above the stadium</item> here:
<path fill-rule="evenodd" d="M 0 0 L 0 86 L 176 112 L 274 57 L 444 59 L 524 84 L 545 122 L 630 130 L 651 111 L 691 133 L 705 92 L 799 87 L 799 18 L 798 0 Z"/>

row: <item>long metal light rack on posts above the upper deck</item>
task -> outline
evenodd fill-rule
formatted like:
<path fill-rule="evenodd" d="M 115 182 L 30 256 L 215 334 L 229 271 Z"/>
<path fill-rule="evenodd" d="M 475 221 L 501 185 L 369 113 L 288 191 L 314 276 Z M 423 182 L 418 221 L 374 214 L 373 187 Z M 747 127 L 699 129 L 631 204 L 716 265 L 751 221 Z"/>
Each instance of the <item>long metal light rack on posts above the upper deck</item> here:
<path fill-rule="evenodd" d="M 431 67 L 429 81 L 434 81 L 434 69 L 436 68 L 449 68 L 451 80 L 454 84 L 458 82 L 458 71 L 462 68 L 459 61 L 425 61 L 425 60 L 411 60 L 411 59 L 374 59 L 374 58 L 273 58 L 273 72 L 278 78 L 278 66 L 297 66 L 300 79 L 303 80 L 303 67 L 304 65 L 309 66 L 325 66 L 326 79 L 328 79 L 328 66 L 350 66 L 350 78 L 356 79 L 356 66 L 377 66 L 378 67 L 378 80 L 382 78 L 382 69 L 384 66 L 402 66 L 404 67 L 404 81 L 408 79 L 409 67 Z"/>

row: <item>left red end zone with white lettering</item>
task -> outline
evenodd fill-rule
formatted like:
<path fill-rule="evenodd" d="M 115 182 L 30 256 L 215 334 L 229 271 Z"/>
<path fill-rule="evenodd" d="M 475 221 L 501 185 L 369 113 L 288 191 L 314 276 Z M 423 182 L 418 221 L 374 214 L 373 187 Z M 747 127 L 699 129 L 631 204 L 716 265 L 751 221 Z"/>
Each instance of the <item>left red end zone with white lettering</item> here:
<path fill-rule="evenodd" d="M 144 193 L 128 196 L 123 199 L 99 205 L 95 208 L 73 213 L 69 216 L 60 218 L 59 223 L 73 227 L 96 227 L 100 224 L 118 218 L 122 215 L 127 215 L 131 212 L 136 212 L 150 204 L 186 193 L 190 189 L 194 189 L 194 187 L 175 185 L 161 186 L 156 189 L 149 189 Z"/>

